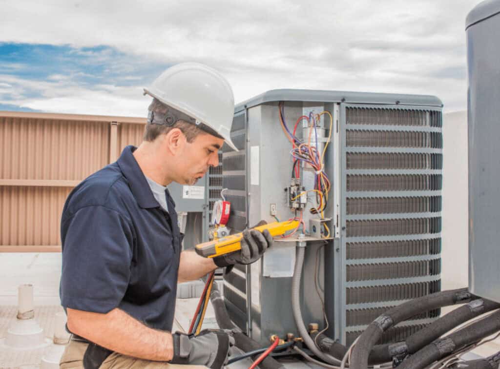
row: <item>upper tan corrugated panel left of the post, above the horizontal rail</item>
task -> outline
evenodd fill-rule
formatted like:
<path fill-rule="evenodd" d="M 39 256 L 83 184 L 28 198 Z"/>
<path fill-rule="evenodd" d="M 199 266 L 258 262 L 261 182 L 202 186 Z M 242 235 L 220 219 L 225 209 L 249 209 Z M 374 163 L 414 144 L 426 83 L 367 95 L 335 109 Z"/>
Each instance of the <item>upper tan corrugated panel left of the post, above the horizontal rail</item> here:
<path fill-rule="evenodd" d="M 81 180 L 108 162 L 108 124 L 0 117 L 1 179 Z"/>

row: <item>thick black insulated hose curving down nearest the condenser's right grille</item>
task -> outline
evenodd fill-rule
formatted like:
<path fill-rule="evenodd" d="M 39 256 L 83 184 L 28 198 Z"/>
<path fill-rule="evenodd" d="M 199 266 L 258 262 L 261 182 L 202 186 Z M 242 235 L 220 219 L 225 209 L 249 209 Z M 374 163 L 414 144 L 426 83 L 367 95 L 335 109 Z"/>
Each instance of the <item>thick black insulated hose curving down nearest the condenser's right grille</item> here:
<path fill-rule="evenodd" d="M 368 357 L 372 347 L 389 327 L 422 311 L 468 302 L 473 297 L 467 291 L 467 288 L 460 288 L 428 294 L 391 308 L 377 317 L 361 333 L 352 349 L 350 366 L 356 369 L 367 369 Z"/>

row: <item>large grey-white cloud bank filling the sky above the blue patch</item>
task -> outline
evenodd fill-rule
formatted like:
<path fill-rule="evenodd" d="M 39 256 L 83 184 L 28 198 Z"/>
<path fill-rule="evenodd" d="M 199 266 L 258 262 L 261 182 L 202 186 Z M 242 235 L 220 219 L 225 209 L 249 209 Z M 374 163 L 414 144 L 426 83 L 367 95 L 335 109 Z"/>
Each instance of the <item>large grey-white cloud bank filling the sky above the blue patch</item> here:
<path fill-rule="evenodd" d="M 11 0 L 0 1 L 0 40 L 204 62 L 229 78 L 236 101 L 272 88 L 321 88 L 435 94 L 450 111 L 466 106 L 464 20 L 477 2 Z M 106 50 L 75 52 L 109 58 Z M 137 78 L 130 73 L 123 69 Z M 113 105 L 117 92 L 103 91 L 86 98 Z"/>

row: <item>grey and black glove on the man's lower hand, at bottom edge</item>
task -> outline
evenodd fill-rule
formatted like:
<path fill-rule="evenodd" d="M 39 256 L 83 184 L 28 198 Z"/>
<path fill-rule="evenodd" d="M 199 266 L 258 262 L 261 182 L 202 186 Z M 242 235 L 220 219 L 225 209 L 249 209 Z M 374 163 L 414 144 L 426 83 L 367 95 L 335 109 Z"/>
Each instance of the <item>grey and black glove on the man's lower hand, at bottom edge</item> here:
<path fill-rule="evenodd" d="M 220 369 L 227 363 L 229 348 L 234 345 L 230 330 L 203 329 L 198 335 L 175 332 L 172 364 L 204 365 Z"/>

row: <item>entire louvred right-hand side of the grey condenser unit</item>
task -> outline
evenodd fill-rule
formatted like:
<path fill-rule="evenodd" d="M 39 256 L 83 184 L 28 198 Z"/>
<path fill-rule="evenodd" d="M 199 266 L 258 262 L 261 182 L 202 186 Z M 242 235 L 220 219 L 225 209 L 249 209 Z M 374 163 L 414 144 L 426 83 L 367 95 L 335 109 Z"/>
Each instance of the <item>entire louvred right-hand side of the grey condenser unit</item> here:
<path fill-rule="evenodd" d="M 342 307 L 344 339 L 351 344 L 360 331 L 347 327 L 369 324 L 390 307 L 384 302 L 393 305 L 440 290 L 442 132 L 436 128 L 442 124 L 441 112 L 434 109 L 349 104 L 344 111 L 342 167 L 348 171 L 342 192 L 342 262 L 345 282 L 356 286 L 346 286 Z M 412 195 L 414 191 L 431 193 Z M 435 215 L 424 215 L 428 213 Z M 419 280 L 429 276 L 436 280 Z M 377 305 L 363 306 L 370 303 Z M 423 312 L 411 320 L 439 313 Z M 405 339 L 423 326 L 393 327 L 381 342 Z"/>

